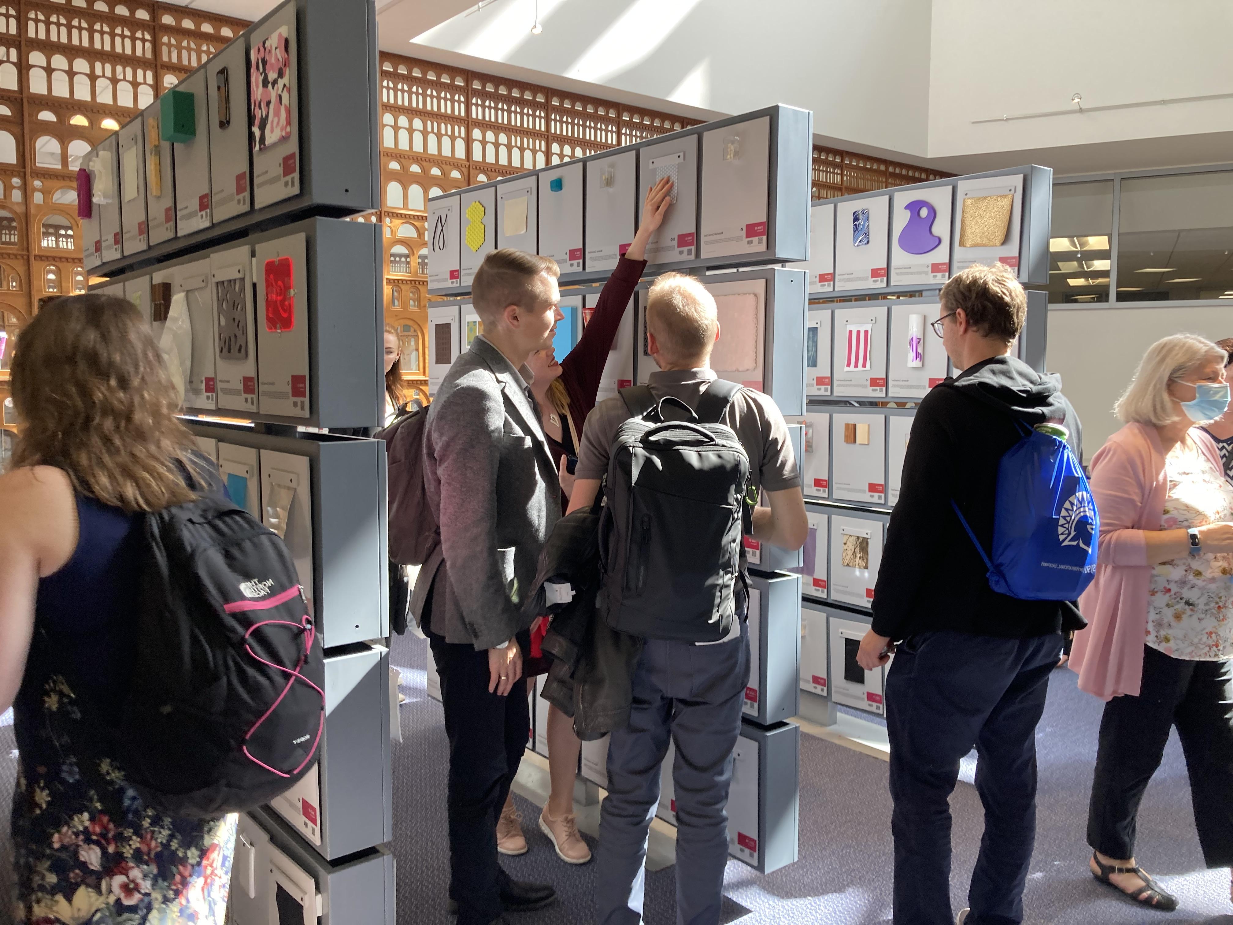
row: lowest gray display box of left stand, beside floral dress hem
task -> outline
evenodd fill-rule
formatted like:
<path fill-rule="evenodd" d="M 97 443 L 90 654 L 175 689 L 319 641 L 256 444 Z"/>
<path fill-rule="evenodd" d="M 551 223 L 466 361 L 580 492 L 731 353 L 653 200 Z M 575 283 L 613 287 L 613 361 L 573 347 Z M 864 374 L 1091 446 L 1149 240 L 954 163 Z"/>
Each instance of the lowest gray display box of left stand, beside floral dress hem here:
<path fill-rule="evenodd" d="M 227 914 L 227 925 L 395 925 L 395 857 L 379 846 L 330 863 L 254 809 L 239 819 Z"/>

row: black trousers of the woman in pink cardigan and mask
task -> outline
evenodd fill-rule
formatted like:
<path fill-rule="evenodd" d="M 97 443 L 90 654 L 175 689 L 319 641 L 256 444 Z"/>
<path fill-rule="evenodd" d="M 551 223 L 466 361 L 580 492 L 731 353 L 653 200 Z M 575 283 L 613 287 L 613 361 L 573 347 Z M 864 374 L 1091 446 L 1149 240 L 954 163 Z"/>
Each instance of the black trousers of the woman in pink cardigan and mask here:
<path fill-rule="evenodd" d="M 1100 720 L 1088 844 L 1134 856 L 1143 791 L 1178 726 L 1190 773 L 1195 828 L 1208 867 L 1233 866 L 1233 659 L 1190 661 L 1143 646 L 1138 697 L 1115 697 Z"/>

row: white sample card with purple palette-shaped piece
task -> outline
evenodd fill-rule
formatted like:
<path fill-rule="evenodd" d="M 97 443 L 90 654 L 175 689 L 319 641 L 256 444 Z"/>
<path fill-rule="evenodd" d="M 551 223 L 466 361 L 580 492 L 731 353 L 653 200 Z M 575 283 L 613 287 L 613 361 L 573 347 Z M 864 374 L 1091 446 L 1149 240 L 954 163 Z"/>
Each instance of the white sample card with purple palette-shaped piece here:
<path fill-rule="evenodd" d="M 895 192 L 890 206 L 890 285 L 951 279 L 953 186 Z"/>

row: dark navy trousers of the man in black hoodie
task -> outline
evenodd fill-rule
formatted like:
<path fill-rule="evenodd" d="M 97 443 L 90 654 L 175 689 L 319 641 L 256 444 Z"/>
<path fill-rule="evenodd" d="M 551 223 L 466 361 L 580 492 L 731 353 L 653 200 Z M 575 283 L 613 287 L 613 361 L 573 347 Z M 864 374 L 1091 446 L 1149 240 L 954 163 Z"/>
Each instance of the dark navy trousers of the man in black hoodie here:
<path fill-rule="evenodd" d="M 1062 636 L 922 633 L 887 672 L 895 925 L 951 925 L 951 805 L 959 761 L 977 749 L 985 834 L 968 890 L 969 925 L 1023 921 L 1036 840 L 1036 726 Z"/>

